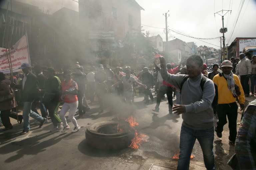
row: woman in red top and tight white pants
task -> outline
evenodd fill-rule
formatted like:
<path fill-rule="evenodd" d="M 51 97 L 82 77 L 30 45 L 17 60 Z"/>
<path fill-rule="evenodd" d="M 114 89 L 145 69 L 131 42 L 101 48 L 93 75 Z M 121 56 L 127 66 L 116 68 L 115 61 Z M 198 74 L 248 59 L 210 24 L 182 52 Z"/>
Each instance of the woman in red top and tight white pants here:
<path fill-rule="evenodd" d="M 67 120 L 65 115 L 69 110 L 68 119 L 74 124 L 74 129 L 72 132 L 77 132 L 80 127 L 77 125 L 76 119 L 74 117 L 77 107 L 78 107 L 78 100 L 77 100 L 77 83 L 71 79 L 72 72 L 67 70 L 64 72 L 64 81 L 61 82 L 62 87 L 62 99 L 64 100 L 64 104 L 60 111 L 60 119 L 63 122 L 63 130 L 61 132 L 65 132 L 66 130 L 70 129 L 69 125 L 67 124 Z"/>

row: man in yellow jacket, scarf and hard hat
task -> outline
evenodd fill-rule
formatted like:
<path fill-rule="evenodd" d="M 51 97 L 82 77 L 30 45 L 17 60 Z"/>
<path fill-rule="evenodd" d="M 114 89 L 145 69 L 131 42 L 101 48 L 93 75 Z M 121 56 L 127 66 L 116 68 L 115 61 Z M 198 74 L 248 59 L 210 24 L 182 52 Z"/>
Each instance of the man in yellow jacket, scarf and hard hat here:
<path fill-rule="evenodd" d="M 223 126 L 227 123 L 229 127 L 229 142 L 235 144 L 237 109 L 236 99 L 241 110 L 244 109 L 245 96 L 242 85 L 237 75 L 232 73 L 232 63 L 224 60 L 221 64 L 222 72 L 213 77 L 213 82 L 218 86 L 218 118 L 219 122 L 215 128 L 218 137 L 222 137 Z M 239 91 L 238 92 L 238 88 Z"/>

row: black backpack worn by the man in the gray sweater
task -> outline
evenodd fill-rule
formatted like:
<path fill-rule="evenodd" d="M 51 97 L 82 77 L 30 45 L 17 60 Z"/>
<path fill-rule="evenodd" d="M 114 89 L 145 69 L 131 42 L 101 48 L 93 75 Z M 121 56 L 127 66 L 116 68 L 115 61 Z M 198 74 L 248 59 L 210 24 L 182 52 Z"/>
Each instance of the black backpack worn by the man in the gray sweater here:
<path fill-rule="evenodd" d="M 182 80 L 182 82 L 180 84 L 180 94 L 181 94 L 182 86 L 187 79 L 188 79 L 188 75 L 186 75 L 186 77 Z M 206 82 L 206 80 L 207 80 L 207 77 L 204 75 L 200 82 L 200 87 L 201 87 L 202 91 L 204 91 L 204 83 Z M 212 101 L 212 109 L 213 109 L 213 113 L 216 114 L 217 107 L 218 107 L 218 86 L 215 83 L 214 83 L 214 89 L 215 89 L 215 96 Z"/>

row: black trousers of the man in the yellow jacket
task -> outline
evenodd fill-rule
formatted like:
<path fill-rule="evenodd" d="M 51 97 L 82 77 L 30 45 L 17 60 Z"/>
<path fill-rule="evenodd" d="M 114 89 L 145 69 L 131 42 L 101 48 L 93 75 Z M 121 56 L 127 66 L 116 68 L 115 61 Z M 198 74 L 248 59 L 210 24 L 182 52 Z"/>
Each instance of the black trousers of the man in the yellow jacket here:
<path fill-rule="evenodd" d="M 237 109 L 238 106 L 236 102 L 229 104 L 219 104 L 217 115 L 219 122 L 216 127 L 216 131 L 221 133 L 223 131 L 223 126 L 227 123 L 228 117 L 228 128 L 229 128 L 229 140 L 236 140 L 236 120 L 237 120 Z"/>

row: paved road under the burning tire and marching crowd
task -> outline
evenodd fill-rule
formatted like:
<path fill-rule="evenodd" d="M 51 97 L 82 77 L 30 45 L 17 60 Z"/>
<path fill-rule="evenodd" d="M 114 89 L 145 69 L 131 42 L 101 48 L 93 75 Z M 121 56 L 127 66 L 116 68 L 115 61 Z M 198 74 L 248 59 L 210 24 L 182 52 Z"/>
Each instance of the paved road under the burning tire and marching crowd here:
<path fill-rule="evenodd" d="M 34 120 L 31 120 L 32 132 L 27 136 L 18 136 L 22 126 L 12 120 L 14 128 L 0 132 L 0 169 L 148 170 L 152 163 L 176 168 L 177 161 L 171 157 L 179 151 L 182 119 L 168 114 L 167 101 L 161 102 L 159 113 L 154 113 L 152 109 L 155 103 L 145 106 L 141 102 L 142 97 L 135 99 L 136 111 L 133 114 L 139 123 L 136 128 L 138 132 L 148 136 L 148 142 L 142 143 L 139 149 L 105 152 L 87 145 L 85 130 L 89 124 L 111 120 L 114 117 L 128 117 L 133 112 L 133 108 L 123 104 L 119 98 L 112 98 L 112 101 L 109 99 L 105 103 L 111 110 L 106 109 L 100 114 L 97 104 L 91 106 L 91 113 L 77 120 L 81 129 L 76 133 L 71 133 L 71 130 L 65 133 L 50 133 L 51 123 L 38 129 L 38 125 L 33 125 Z M 69 125 L 73 128 L 72 123 Z M 225 135 L 228 136 L 227 129 L 223 136 Z M 229 169 L 223 158 L 233 154 L 234 146 L 229 145 L 227 139 L 220 140 L 215 136 L 214 150 L 217 152 L 217 168 Z M 192 153 L 195 158 L 191 160 L 190 169 L 205 169 L 198 142 L 195 143 Z"/>

